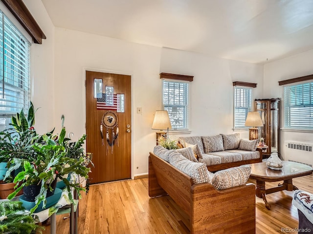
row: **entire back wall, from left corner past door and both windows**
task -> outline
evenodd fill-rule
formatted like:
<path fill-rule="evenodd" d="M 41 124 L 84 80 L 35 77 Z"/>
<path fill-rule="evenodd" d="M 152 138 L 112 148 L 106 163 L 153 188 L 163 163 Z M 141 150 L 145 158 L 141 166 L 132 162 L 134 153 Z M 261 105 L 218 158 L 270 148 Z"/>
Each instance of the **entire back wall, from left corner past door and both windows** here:
<path fill-rule="evenodd" d="M 261 65 L 56 28 L 54 117 L 58 123 L 64 114 L 67 131 L 75 136 L 85 133 L 86 69 L 132 76 L 133 176 L 148 172 L 148 153 L 155 146 L 151 126 L 155 111 L 161 108 L 160 72 L 195 76 L 191 90 L 192 135 L 232 132 L 232 81 L 259 83 L 255 93 L 256 98 L 262 98 Z M 137 107 L 142 108 L 142 114 L 136 114 Z M 247 132 L 242 134 L 247 138 Z"/>

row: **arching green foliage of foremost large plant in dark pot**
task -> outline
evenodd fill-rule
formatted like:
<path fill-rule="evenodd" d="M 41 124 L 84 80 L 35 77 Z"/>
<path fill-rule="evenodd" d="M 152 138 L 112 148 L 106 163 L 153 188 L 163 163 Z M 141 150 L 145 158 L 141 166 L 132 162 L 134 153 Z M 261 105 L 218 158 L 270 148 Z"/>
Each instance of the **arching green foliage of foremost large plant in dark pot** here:
<path fill-rule="evenodd" d="M 46 196 L 49 192 L 53 192 L 55 187 L 52 186 L 52 182 L 57 178 L 64 181 L 68 193 L 68 197 L 73 201 L 72 194 L 70 193 L 71 188 L 75 189 L 80 195 L 80 191 L 85 191 L 81 188 L 79 183 L 76 181 L 70 182 L 65 175 L 69 173 L 74 173 L 76 175 L 88 178 L 89 168 L 84 165 L 85 155 L 82 153 L 76 157 L 70 157 L 69 149 L 65 144 L 66 129 L 63 128 L 61 133 L 57 135 L 43 135 L 37 136 L 36 138 L 42 138 L 43 140 L 35 140 L 32 147 L 36 152 L 36 158 L 33 161 L 28 159 L 14 158 L 12 163 L 15 165 L 23 165 L 22 172 L 20 172 L 14 179 L 15 183 L 20 183 L 16 185 L 16 190 L 8 196 L 8 199 L 12 199 L 17 193 L 24 188 L 29 186 L 40 187 L 39 192 L 36 193 L 35 206 L 30 210 L 33 213 L 39 204 L 43 202 L 43 208 L 46 205 Z M 75 150 L 83 150 L 82 144 L 86 136 L 83 136 Z M 83 152 L 83 151 L 82 151 Z M 24 191 L 25 194 L 25 191 Z"/>

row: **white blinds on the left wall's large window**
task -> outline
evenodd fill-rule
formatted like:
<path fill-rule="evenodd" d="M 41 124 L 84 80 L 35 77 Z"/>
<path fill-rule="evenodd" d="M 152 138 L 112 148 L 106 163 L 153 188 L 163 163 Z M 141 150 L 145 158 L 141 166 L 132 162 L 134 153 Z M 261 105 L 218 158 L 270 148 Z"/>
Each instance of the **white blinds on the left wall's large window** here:
<path fill-rule="evenodd" d="M 30 100 L 30 43 L 0 11 L 0 115 L 11 117 Z"/>

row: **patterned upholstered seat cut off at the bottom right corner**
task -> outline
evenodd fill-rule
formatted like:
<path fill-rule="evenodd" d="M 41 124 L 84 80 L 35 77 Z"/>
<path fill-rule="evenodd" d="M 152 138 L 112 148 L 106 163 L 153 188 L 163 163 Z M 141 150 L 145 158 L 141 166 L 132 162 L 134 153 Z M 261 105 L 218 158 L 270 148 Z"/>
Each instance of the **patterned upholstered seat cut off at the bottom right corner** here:
<path fill-rule="evenodd" d="M 298 209 L 298 234 L 313 233 L 313 195 L 302 190 L 295 190 L 292 205 Z"/>

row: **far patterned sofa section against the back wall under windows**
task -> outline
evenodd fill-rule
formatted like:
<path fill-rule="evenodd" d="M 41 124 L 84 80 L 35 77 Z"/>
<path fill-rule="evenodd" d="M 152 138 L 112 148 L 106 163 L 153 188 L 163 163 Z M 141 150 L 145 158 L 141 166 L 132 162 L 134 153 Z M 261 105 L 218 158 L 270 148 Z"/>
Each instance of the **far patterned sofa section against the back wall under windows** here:
<path fill-rule="evenodd" d="M 262 162 L 259 140 L 241 139 L 240 134 L 220 134 L 210 137 L 179 137 L 181 147 L 192 147 L 199 162 L 210 172 L 240 165 Z"/>

